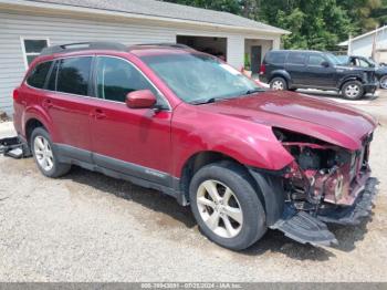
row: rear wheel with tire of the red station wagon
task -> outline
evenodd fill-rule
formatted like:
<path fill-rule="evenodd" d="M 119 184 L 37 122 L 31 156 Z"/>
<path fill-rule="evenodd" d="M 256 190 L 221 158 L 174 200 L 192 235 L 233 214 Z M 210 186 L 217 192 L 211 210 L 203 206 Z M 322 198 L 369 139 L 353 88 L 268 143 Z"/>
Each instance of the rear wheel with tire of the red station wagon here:
<path fill-rule="evenodd" d="M 71 169 L 70 164 L 60 163 L 50 134 L 38 127 L 31 134 L 31 152 L 40 172 L 46 177 L 56 178 Z"/>

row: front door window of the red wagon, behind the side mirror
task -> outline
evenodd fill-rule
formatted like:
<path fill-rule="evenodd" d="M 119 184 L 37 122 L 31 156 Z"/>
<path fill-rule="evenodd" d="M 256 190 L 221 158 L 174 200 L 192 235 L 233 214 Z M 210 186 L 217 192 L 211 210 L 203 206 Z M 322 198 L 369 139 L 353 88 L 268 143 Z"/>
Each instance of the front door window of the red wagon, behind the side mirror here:
<path fill-rule="evenodd" d="M 115 58 L 97 59 L 96 85 L 98 97 L 116 102 L 125 102 L 128 93 L 139 90 L 150 90 L 157 94 L 136 68 Z"/>

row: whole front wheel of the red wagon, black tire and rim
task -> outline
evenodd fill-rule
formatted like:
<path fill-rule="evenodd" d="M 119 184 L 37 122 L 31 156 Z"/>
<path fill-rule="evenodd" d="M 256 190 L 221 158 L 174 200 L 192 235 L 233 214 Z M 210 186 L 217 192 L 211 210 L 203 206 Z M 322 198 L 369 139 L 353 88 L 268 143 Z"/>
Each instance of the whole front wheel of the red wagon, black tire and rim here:
<path fill-rule="evenodd" d="M 240 166 L 222 162 L 202 167 L 190 183 L 191 210 L 201 232 L 231 250 L 250 247 L 268 230 L 263 206 L 249 179 Z M 211 197 L 216 194 L 218 200 Z"/>

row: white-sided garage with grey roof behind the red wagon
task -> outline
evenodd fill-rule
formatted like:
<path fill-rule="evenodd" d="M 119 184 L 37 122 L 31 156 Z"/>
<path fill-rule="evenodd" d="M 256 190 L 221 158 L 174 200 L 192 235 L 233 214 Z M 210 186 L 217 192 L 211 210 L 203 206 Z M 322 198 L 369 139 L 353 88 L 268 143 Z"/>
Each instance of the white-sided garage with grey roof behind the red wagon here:
<path fill-rule="evenodd" d="M 12 90 L 48 45 L 179 42 L 241 69 L 245 58 L 260 63 L 266 50 L 278 49 L 284 33 L 234 14 L 155 0 L 0 0 L 0 111 L 12 113 Z M 247 46 L 250 41 L 260 51 Z"/>

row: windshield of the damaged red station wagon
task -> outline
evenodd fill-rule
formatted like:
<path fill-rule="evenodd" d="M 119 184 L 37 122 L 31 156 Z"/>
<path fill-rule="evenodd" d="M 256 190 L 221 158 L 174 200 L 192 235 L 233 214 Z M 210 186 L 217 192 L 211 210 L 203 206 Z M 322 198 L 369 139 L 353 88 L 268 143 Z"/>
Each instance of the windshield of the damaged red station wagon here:
<path fill-rule="evenodd" d="M 264 91 L 229 64 L 210 55 L 151 55 L 142 60 L 187 103 L 199 104 Z"/>

